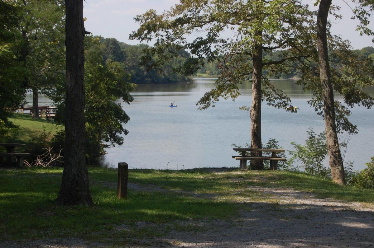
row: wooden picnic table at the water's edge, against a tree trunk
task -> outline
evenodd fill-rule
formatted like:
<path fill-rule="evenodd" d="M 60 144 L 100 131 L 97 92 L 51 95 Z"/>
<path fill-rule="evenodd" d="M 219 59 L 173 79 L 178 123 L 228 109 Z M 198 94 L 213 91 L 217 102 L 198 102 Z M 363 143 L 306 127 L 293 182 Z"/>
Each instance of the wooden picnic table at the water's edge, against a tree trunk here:
<path fill-rule="evenodd" d="M 285 152 L 283 149 L 260 149 L 260 148 L 234 148 L 236 152 L 241 152 L 241 156 L 233 156 L 233 158 L 240 160 L 240 168 L 244 170 L 247 168 L 247 160 L 269 160 L 270 170 L 278 169 L 278 161 L 287 161 L 286 158 L 277 156 L 277 152 Z M 271 152 L 272 156 L 246 156 L 246 152 Z"/>

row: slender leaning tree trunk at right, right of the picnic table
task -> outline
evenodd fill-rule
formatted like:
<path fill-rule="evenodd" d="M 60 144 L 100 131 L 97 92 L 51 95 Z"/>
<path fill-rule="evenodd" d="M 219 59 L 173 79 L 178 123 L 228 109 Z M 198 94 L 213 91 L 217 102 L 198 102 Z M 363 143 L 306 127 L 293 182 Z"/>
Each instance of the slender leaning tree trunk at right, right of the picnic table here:
<path fill-rule="evenodd" d="M 332 0 L 321 0 L 317 15 L 317 46 L 322 98 L 324 100 L 326 142 L 332 180 L 345 185 L 343 159 L 341 158 L 335 123 L 334 92 L 332 90 L 327 47 L 327 17 Z"/>

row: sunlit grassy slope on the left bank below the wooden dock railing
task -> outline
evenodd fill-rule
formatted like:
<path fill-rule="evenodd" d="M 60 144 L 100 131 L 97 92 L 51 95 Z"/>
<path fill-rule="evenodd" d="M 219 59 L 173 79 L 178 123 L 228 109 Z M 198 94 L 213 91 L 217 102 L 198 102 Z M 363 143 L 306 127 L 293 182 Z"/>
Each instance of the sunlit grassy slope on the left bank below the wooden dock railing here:
<path fill-rule="evenodd" d="M 13 124 L 19 126 L 19 136 L 15 140 L 17 143 L 27 143 L 30 139 L 38 137 L 43 130 L 54 134 L 56 131 L 63 129 L 64 127 L 48 123 L 47 120 L 39 118 L 33 119 L 31 115 L 14 113 L 9 118 Z"/>

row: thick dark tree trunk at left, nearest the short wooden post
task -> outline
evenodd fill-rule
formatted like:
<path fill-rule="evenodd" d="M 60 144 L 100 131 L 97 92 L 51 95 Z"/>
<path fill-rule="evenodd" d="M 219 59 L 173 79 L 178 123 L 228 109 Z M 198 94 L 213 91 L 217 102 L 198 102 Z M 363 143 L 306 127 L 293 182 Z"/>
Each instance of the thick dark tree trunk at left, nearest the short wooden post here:
<path fill-rule="evenodd" d="M 83 0 L 65 0 L 65 163 L 56 203 L 93 204 L 85 159 Z"/>

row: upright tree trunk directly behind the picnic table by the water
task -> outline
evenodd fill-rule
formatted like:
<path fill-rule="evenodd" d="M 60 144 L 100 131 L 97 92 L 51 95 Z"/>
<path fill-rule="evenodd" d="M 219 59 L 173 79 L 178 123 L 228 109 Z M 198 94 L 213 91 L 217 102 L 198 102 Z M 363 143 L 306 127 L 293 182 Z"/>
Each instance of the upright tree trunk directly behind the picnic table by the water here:
<path fill-rule="evenodd" d="M 258 32 L 261 35 L 261 32 Z M 262 44 L 255 44 L 252 52 L 252 106 L 251 106 L 251 148 L 262 148 L 261 142 L 261 77 L 262 77 Z M 262 156 L 262 152 L 252 152 L 254 156 Z M 261 160 L 251 160 L 251 169 L 263 170 Z"/>

